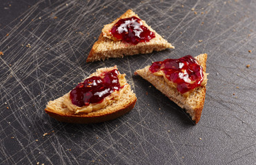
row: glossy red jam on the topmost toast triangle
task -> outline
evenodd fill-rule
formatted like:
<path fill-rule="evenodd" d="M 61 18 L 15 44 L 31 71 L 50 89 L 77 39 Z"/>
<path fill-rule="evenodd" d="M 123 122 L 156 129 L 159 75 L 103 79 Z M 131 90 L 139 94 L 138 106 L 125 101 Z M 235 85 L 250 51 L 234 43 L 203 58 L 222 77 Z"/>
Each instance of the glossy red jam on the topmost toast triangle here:
<path fill-rule="evenodd" d="M 110 32 L 117 40 L 126 41 L 133 45 L 148 42 L 155 38 L 155 32 L 151 32 L 146 26 L 142 25 L 141 19 L 137 17 L 119 19 Z"/>

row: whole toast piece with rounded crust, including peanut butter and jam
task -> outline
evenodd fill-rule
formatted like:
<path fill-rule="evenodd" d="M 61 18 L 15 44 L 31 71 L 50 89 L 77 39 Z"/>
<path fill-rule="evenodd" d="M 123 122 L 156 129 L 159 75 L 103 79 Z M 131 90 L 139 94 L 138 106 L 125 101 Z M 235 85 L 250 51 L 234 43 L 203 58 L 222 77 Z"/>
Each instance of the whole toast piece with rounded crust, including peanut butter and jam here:
<path fill-rule="evenodd" d="M 128 113 L 137 101 L 126 74 L 117 67 L 97 69 L 68 94 L 48 102 L 46 113 L 60 122 L 105 122 Z"/>

